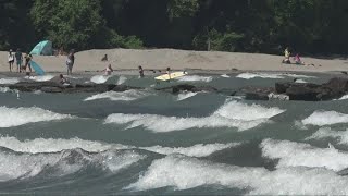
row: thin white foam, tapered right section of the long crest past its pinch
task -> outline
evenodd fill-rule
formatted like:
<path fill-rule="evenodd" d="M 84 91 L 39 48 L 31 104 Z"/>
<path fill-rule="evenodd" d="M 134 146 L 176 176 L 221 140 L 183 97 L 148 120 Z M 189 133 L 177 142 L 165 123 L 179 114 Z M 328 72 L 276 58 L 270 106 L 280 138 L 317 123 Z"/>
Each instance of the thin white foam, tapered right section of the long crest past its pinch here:
<path fill-rule="evenodd" d="M 149 151 L 154 151 L 162 155 L 171 154 L 182 154 L 190 157 L 207 157 L 215 151 L 220 151 L 226 148 L 235 147 L 240 145 L 240 143 L 228 143 L 228 144 L 197 144 L 190 147 L 162 147 L 162 146 L 152 146 L 152 147 L 141 147 Z"/>

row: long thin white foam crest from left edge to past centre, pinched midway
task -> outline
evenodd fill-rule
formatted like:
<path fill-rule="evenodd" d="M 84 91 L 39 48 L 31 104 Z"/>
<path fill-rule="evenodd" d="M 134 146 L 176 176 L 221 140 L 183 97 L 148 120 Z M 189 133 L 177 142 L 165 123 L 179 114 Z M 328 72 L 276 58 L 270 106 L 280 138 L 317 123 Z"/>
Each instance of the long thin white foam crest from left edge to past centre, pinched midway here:
<path fill-rule="evenodd" d="M 29 154 L 42 154 L 42 152 L 58 152 L 62 150 L 80 148 L 88 152 L 101 152 L 107 150 L 120 150 L 120 149 L 145 149 L 162 155 L 182 154 L 192 157 L 206 157 L 215 151 L 220 151 L 226 148 L 236 147 L 240 143 L 228 143 L 228 144 L 197 144 L 190 147 L 135 147 L 126 146 L 122 144 L 108 144 L 96 140 L 84 140 L 80 138 L 35 138 L 32 140 L 18 140 L 15 137 L 3 136 L 0 137 L 0 146 L 9 148 L 17 152 L 29 152 Z"/>

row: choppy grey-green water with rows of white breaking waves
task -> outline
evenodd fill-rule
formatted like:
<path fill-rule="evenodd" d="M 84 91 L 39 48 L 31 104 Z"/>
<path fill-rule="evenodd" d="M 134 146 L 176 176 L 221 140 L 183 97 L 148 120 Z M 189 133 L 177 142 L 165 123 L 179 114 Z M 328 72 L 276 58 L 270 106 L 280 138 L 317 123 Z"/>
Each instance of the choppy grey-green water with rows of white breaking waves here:
<path fill-rule="evenodd" d="M 328 75 L 241 73 L 74 76 L 146 87 L 103 94 L 0 89 L 0 193 L 348 194 L 348 100 L 247 101 L 224 94 L 154 90 L 189 83 L 219 89 L 322 83 Z M 0 78 L 47 81 L 51 76 Z"/>

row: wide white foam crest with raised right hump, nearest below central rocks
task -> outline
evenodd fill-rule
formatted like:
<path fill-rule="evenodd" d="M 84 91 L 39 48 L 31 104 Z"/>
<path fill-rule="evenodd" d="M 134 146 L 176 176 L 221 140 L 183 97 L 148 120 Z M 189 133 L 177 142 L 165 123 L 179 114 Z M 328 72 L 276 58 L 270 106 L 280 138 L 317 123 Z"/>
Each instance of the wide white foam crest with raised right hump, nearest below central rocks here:
<path fill-rule="evenodd" d="M 194 127 L 237 127 L 239 131 L 256 127 L 285 110 L 248 106 L 237 101 L 223 105 L 217 111 L 203 118 L 177 118 L 157 114 L 110 114 L 105 123 L 129 124 L 127 128 L 144 126 L 153 132 L 172 132 Z"/>

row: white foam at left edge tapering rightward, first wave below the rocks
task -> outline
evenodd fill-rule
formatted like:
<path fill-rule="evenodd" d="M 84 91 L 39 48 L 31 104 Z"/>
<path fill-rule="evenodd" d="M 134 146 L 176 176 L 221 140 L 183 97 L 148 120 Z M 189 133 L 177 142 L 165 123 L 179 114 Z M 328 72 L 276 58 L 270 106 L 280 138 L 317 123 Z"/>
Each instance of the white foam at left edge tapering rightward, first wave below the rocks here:
<path fill-rule="evenodd" d="M 53 121 L 73 118 L 70 114 L 54 113 L 41 108 L 7 108 L 0 107 L 0 127 L 20 126 L 26 123 Z"/>

